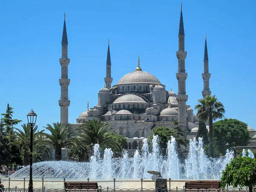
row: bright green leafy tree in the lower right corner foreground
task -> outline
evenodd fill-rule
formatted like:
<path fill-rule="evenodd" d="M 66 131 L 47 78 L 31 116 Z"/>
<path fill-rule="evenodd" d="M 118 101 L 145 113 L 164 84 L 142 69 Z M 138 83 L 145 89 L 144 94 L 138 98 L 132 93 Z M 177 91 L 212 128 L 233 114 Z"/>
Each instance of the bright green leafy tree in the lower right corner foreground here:
<path fill-rule="evenodd" d="M 234 187 L 249 187 L 253 192 L 256 185 L 256 159 L 249 157 L 233 158 L 222 171 L 221 186 L 232 185 Z"/>

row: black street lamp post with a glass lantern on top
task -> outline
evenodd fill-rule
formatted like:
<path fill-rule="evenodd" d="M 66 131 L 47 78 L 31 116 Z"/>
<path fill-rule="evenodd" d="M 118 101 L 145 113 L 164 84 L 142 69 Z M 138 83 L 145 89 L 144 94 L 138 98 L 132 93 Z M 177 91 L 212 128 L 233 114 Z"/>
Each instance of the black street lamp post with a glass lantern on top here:
<path fill-rule="evenodd" d="M 33 128 L 35 126 L 37 115 L 31 109 L 31 112 L 27 115 L 28 123 L 30 125 L 30 168 L 29 168 L 29 192 L 33 192 L 33 179 L 32 179 L 32 168 L 33 168 Z"/>

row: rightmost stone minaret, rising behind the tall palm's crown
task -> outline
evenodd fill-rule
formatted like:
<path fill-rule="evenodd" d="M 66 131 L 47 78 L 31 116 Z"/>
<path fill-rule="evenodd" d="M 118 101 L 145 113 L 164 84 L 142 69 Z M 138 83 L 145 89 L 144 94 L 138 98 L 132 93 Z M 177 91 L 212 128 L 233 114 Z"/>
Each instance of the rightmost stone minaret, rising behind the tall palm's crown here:
<path fill-rule="evenodd" d="M 206 34 L 205 34 L 205 45 L 204 45 L 204 73 L 202 73 L 202 77 L 204 79 L 204 90 L 202 91 L 202 95 L 203 97 L 206 97 L 208 95 L 211 95 L 211 91 L 209 89 L 209 79 L 211 77 L 211 74 L 209 73 Z"/>

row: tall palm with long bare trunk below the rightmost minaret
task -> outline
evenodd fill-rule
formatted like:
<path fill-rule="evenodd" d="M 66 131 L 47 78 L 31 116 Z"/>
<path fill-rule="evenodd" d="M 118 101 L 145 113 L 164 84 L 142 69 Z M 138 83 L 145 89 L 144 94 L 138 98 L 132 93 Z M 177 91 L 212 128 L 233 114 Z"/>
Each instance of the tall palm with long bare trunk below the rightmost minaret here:
<path fill-rule="evenodd" d="M 209 119 L 209 144 L 210 144 L 210 157 L 213 157 L 213 127 L 212 121 L 221 119 L 224 117 L 225 109 L 221 102 L 218 102 L 218 98 L 215 95 L 208 95 L 204 99 L 199 99 L 198 104 L 195 106 L 197 109 L 197 117 L 202 121 Z"/>

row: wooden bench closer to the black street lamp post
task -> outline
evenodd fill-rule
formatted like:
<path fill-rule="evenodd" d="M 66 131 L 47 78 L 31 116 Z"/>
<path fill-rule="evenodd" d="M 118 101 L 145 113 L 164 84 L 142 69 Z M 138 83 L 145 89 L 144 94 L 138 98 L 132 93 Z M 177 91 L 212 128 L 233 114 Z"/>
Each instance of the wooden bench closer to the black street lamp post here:
<path fill-rule="evenodd" d="M 65 190 L 67 191 L 101 191 L 101 186 L 97 182 L 65 182 Z M 100 189 L 99 189 L 100 188 Z"/>

